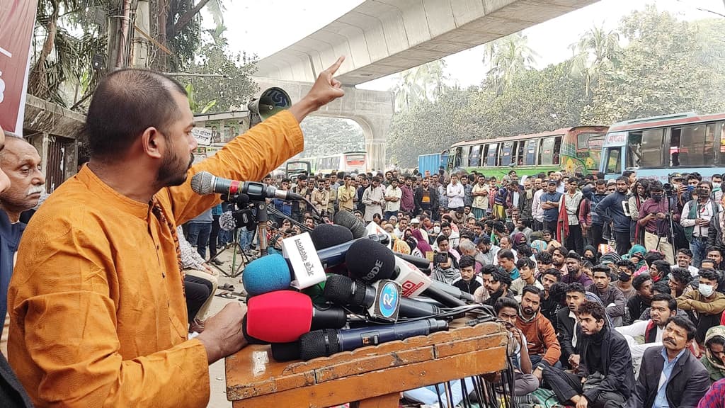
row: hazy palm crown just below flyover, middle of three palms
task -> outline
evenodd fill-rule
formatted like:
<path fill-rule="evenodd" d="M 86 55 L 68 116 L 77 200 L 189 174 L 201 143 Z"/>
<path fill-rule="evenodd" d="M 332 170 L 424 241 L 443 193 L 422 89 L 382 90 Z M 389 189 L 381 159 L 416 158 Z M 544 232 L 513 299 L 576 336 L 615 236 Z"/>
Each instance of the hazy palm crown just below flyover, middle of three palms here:
<path fill-rule="evenodd" d="M 528 42 L 526 36 L 515 33 L 486 44 L 483 62 L 491 66 L 486 76 L 497 94 L 519 73 L 534 68 L 539 55 L 529 48 Z"/>

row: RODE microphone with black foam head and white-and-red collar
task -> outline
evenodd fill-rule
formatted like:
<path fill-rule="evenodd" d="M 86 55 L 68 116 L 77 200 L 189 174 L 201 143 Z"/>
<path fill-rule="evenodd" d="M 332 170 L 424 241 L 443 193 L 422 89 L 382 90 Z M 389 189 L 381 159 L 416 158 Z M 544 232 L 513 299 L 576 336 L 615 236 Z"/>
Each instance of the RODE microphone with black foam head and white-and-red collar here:
<path fill-rule="evenodd" d="M 402 294 L 406 298 L 423 294 L 448 307 L 464 306 L 464 301 L 473 301 L 470 293 L 444 282 L 431 280 L 415 265 L 399 260 L 397 255 L 393 255 L 391 250 L 378 242 L 359 240 L 350 246 L 345 255 L 349 276 L 368 283 L 392 279 L 402 286 Z"/>

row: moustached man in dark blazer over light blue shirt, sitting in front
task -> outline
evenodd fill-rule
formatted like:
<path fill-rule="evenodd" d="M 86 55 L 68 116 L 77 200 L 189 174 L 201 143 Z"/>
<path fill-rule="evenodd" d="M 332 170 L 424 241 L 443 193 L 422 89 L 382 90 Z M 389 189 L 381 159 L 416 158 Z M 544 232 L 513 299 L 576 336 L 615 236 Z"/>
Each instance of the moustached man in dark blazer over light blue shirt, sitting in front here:
<path fill-rule="evenodd" d="M 708 391 L 708 371 L 689 352 L 695 325 L 687 317 L 671 317 L 663 334 L 663 346 L 647 348 L 642 368 L 626 408 L 669 406 L 695 408 Z"/>

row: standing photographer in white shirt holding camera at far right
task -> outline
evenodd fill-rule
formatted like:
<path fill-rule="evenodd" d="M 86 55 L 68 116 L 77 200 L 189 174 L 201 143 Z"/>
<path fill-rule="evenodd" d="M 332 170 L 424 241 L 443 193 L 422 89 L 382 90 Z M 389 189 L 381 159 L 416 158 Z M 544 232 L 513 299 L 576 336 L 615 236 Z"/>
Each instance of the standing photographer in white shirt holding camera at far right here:
<path fill-rule="evenodd" d="M 700 181 L 692 191 L 692 200 L 682 208 L 680 224 L 684 227 L 689 250 L 692 251 L 692 265 L 696 268 L 700 267 L 700 262 L 706 255 L 710 220 L 718 219 L 718 213 L 721 212 L 720 205 L 710 198 L 712 191 L 713 185 L 710 181 Z"/>

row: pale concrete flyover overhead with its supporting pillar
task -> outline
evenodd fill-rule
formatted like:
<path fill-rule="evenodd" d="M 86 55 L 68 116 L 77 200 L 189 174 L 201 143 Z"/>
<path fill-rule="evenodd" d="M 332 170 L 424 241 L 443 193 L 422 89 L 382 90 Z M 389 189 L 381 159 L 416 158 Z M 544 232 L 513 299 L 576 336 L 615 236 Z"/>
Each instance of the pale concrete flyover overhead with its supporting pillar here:
<path fill-rule="evenodd" d="M 596 1 L 365 0 L 310 36 L 262 58 L 256 75 L 310 83 L 339 55 L 345 55 L 337 78 L 355 86 L 517 33 Z M 381 113 L 392 114 L 392 98 L 366 94 L 363 99 L 380 105 Z M 383 107 L 384 103 L 391 106 Z M 368 136 L 374 143 L 366 144 L 384 146 L 385 133 L 366 132 Z M 382 152 L 368 152 L 373 167 L 382 168 L 384 147 Z"/>

